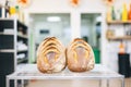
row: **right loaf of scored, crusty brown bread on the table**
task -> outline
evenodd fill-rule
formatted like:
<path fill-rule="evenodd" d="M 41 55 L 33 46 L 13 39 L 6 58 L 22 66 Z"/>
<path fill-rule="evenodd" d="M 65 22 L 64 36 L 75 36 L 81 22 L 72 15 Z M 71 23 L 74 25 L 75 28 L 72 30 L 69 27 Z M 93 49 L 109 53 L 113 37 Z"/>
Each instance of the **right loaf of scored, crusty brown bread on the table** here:
<path fill-rule="evenodd" d="M 95 58 L 91 46 L 75 38 L 67 48 L 68 69 L 72 72 L 85 72 L 94 67 Z"/>

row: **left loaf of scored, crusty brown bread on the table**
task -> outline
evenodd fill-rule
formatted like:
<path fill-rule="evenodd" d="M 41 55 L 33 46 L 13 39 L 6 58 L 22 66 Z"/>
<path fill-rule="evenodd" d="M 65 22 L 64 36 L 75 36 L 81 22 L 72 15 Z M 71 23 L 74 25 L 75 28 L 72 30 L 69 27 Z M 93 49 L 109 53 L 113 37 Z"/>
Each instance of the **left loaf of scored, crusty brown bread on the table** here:
<path fill-rule="evenodd" d="M 66 48 L 56 37 L 46 38 L 37 49 L 37 67 L 41 73 L 57 73 L 66 67 Z"/>

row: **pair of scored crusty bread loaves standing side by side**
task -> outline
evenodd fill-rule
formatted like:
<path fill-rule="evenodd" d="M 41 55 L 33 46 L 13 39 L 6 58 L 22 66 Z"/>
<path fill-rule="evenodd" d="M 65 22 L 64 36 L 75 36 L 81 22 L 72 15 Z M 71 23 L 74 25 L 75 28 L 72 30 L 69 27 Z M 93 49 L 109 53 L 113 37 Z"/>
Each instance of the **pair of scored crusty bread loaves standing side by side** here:
<path fill-rule="evenodd" d="M 48 37 L 37 49 L 37 67 L 41 73 L 61 72 L 67 65 L 72 72 L 85 72 L 94 64 L 94 52 L 81 38 L 75 38 L 66 48 L 56 37 Z"/>

